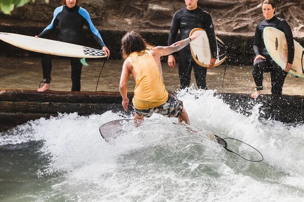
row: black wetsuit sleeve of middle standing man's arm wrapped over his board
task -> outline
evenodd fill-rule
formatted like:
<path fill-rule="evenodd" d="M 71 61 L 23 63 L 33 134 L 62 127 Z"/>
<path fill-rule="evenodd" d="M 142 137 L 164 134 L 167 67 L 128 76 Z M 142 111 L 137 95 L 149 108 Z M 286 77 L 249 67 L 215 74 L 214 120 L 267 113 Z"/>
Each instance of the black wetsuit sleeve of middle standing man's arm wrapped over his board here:
<path fill-rule="evenodd" d="M 203 12 L 203 20 L 206 25 L 205 31 L 209 39 L 212 58 L 217 58 L 217 45 L 211 15 L 207 12 Z"/>

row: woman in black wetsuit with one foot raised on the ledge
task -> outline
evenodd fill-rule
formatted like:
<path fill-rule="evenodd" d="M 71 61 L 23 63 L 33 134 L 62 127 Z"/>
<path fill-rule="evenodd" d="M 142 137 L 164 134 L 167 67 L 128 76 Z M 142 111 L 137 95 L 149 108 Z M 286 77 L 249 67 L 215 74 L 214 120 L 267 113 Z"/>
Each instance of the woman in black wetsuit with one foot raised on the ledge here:
<path fill-rule="evenodd" d="M 256 26 L 253 51 L 255 59 L 253 61 L 252 75 L 256 85 L 256 91 L 251 94 L 252 98 L 257 98 L 263 89 L 263 73 L 270 72 L 271 75 L 271 93 L 273 95 L 281 95 L 284 80 L 291 68 L 294 57 L 294 43 L 291 29 L 288 23 L 282 19 L 274 16 L 276 5 L 273 0 L 265 0 L 262 2 L 262 12 L 265 20 L 259 22 Z M 270 57 L 267 49 L 262 44 L 263 30 L 265 27 L 274 27 L 285 33 L 288 47 L 288 61 L 283 70 L 276 62 Z"/>

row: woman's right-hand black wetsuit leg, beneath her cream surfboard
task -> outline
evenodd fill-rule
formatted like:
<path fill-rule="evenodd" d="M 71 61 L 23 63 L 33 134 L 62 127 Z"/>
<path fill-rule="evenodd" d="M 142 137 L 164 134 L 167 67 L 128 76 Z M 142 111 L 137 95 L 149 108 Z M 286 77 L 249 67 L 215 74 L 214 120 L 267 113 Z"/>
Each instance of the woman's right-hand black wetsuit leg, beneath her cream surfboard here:
<path fill-rule="evenodd" d="M 285 78 L 288 72 L 285 72 L 275 61 L 271 60 L 272 70 L 271 75 L 271 93 L 274 95 L 281 95 L 282 88 L 285 81 Z"/>

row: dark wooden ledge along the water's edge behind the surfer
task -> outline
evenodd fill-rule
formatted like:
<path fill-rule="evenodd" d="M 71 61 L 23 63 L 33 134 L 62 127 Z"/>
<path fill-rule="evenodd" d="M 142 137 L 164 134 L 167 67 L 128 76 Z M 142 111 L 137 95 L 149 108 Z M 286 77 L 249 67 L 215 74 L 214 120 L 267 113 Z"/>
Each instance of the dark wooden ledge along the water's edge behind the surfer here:
<path fill-rule="evenodd" d="M 249 94 L 218 93 L 230 108 L 246 116 L 252 108 L 261 104 L 259 117 L 283 123 L 304 123 L 304 96 L 282 95 L 276 97 L 263 94 L 254 100 Z M 128 94 L 129 99 L 133 93 Z M 35 90 L 0 90 L 0 132 L 12 129 L 29 120 L 49 118 L 58 113 L 77 112 L 82 116 L 103 114 L 106 111 L 123 112 L 119 92 L 63 92 Z M 129 106 L 129 113 L 133 112 Z"/>

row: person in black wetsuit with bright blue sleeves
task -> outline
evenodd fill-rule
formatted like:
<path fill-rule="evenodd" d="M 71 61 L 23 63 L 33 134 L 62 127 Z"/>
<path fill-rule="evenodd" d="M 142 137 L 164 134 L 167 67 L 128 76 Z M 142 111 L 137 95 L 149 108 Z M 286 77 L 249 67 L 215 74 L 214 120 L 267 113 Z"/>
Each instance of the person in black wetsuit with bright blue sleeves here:
<path fill-rule="evenodd" d="M 89 13 L 79 6 L 80 0 L 63 0 L 61 7 L 54 11 L 54 18 L 49 26 L 43 30 L 38 36 L 45 38 L 52 33 L 59 24 L 58 40 L 81 45 L 82 43 L 82 30 L 84 24 L 91 31 L 94 40 L 102 47 L 103 51 L 110 55 L 109 49 L 105 46 L 99 31 L 94 27 Z M 81 70 L 82 64 L 79 58 L 70 58 L 71 63 L 71 80 L 72 91 L 80 91 L 81 84 Z M 44 55 L 42 59 L 42 71 L 44 86 L 39 88 L 38 91 L 46 91 L 50 89 L 51 72 L 52 72 L 52 56 Z"/>

